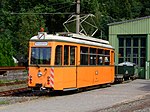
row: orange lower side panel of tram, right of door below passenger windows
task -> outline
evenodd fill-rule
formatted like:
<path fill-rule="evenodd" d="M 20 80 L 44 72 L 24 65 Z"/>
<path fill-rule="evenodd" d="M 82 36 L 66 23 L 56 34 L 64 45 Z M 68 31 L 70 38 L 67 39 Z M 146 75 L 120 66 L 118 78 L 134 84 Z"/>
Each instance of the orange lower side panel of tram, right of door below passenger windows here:
<path fill-rule="evenodd" d="M 87 87 L 114 81 L 113 67 L 78 67 L 77 87 Z"/>

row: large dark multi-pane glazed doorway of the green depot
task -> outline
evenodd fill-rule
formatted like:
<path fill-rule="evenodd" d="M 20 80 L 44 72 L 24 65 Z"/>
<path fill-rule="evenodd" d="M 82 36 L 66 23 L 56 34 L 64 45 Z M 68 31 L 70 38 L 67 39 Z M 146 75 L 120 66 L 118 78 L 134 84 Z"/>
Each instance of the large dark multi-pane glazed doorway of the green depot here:
<path fill-rule="evenodd" d="M 119 63 L 130 61 L 145 67 L 146 35 L 121 35 L 119 38 Z"/>

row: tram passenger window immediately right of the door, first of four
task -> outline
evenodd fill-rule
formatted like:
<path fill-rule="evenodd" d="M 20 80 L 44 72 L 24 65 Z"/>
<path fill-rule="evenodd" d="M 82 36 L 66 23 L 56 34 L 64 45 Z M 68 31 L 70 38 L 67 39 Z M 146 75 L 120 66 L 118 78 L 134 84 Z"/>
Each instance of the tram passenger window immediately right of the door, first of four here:
<path fill-rule="evenodd" d="M 88 65 L 88 47 L 80 48 L 80 65 Z"/>

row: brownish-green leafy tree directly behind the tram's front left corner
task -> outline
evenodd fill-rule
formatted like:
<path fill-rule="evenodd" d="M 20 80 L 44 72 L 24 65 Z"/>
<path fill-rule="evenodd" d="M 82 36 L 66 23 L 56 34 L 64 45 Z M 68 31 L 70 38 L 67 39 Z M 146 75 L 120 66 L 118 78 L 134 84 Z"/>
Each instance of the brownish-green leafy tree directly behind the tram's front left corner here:
<path fill-rule="evenodd" d="M 17 25 L 18 30 L 15 32 L 13 39 L 13 47 L 16 49 L 15 57 L 18 59 L 22 59 L 27 56 L 29 39 L 33 35 L 37 35 L 40 27 L 45 27 L 45 21 L 42 16 L 32 15 L 33 12 L 31 11 L 27 13 L 29 13 L 29 15 L 20 15 L 17 17 L 20 22 Z"/>

